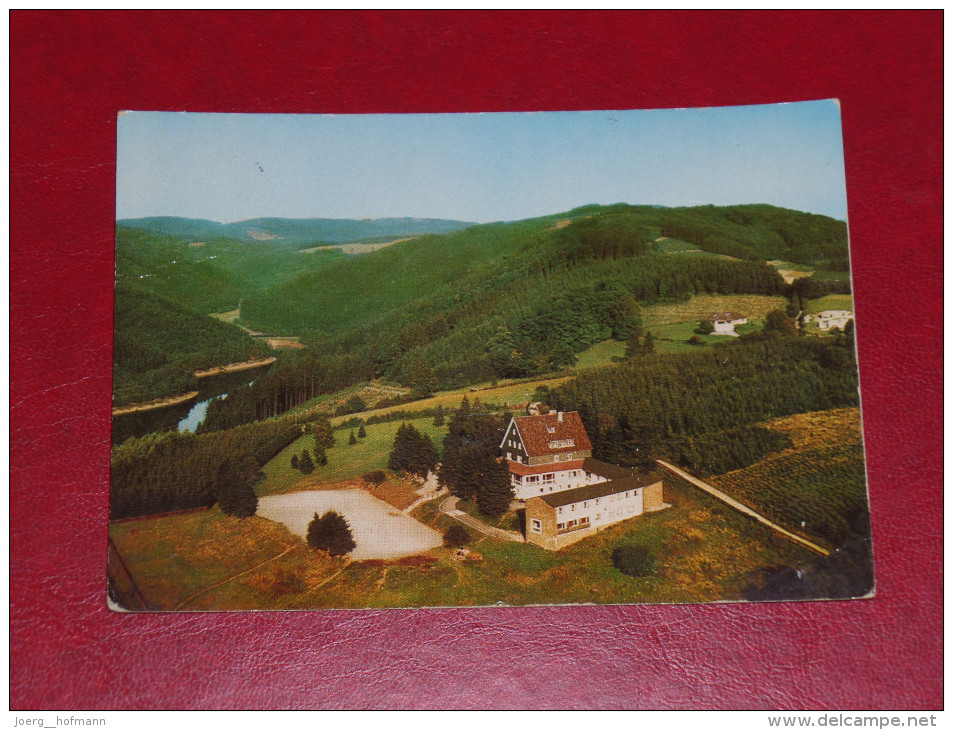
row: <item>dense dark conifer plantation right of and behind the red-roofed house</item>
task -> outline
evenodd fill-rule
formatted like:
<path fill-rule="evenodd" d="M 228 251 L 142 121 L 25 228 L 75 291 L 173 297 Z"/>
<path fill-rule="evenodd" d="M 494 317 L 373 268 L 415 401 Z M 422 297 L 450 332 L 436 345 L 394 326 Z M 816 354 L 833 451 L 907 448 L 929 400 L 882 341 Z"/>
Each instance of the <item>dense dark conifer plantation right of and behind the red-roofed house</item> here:
<path fill-rule="evenodd" d="M 700 475 L 746 466 L 786 439 L 756 424 L 856 405 L 857 371 L 841 341 L 761 335 L 583 373 L 550 393 L 579 411 L 596 458 L 648 467 L 664 458 Z"/>

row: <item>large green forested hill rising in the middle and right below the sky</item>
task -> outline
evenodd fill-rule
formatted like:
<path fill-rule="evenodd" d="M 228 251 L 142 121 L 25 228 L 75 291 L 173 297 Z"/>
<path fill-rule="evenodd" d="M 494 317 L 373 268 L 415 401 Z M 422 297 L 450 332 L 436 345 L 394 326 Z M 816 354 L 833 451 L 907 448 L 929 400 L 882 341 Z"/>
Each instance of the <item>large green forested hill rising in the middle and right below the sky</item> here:
<path fill-rule="evenodd" d="M 247 297 L 241 316 L 357 354 L 378 376 L 448 388 L 571 365 L 624 339 L 647 303 L 783 293 L 765 260 L 811 256 L 846 262 L 844 224 L 761 205 L 586 206 L 334 260 Z"/>

